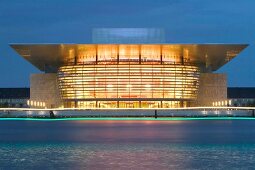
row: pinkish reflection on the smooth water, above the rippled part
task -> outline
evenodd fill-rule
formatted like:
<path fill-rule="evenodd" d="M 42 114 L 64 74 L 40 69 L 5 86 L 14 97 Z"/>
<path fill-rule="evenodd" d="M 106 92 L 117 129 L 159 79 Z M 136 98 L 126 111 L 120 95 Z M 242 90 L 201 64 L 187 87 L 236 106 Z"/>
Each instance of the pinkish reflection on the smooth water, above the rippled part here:
<path fill-rule="evenodd" d="M 182 121 L 93 120 L 75 123 L 86 130 L 79 128 L 79 132 L 74 132 L 72 137 L 87 142 L 150 142 L 182 139 L 185 135 L 183 129 L 174 126 Z"/>

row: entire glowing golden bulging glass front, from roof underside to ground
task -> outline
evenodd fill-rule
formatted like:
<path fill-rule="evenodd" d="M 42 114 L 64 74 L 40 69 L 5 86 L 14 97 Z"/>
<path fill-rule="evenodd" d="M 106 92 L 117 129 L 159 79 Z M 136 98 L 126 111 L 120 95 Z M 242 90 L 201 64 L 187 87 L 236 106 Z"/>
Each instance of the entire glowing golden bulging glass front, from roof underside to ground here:
<path fill-rule="evenodd" d="M 186 107 L 196 99 L 199 68 L 188 51 L 161 45 L 91 45 L 70 52 L 58 70 L 65 107 Z M 73 61 L 73 62 L 72 62 Z M 188 61 L 188 60 L 185 60 Z"/>

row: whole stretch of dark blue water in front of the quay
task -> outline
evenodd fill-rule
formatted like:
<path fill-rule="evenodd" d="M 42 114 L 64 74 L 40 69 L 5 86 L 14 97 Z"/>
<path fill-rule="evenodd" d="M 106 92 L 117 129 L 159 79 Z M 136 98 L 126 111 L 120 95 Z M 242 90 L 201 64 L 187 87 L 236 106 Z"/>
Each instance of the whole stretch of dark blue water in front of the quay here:
<path fill-rule="evenodd" d="M 0 169 L 254 169 L 255 120 L 0 120 Z"/>

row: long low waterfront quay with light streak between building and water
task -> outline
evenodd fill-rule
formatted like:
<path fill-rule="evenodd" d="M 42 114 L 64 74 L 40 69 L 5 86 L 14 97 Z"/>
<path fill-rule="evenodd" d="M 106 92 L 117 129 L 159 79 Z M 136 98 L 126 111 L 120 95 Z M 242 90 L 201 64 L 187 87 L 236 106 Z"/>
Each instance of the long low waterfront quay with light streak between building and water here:
<path fill-rule="evenodd" d="M 255 107 L 189 107 L 151 109 L 0 108 L 0 117 L 254 117 Z M 53 115 L 53 114 L 54 115 Z"/>

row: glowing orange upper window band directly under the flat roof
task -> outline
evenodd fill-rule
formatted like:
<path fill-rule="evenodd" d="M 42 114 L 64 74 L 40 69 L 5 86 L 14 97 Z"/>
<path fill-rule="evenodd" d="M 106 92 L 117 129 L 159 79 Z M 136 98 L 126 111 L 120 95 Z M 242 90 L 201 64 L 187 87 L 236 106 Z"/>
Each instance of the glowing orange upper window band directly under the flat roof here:
<path fill-rule="evenodd" d="M 190 58 L 189 50 L 178 45 L 97 44 L 69 49 L 65 64 L 173 64 Z"/>

